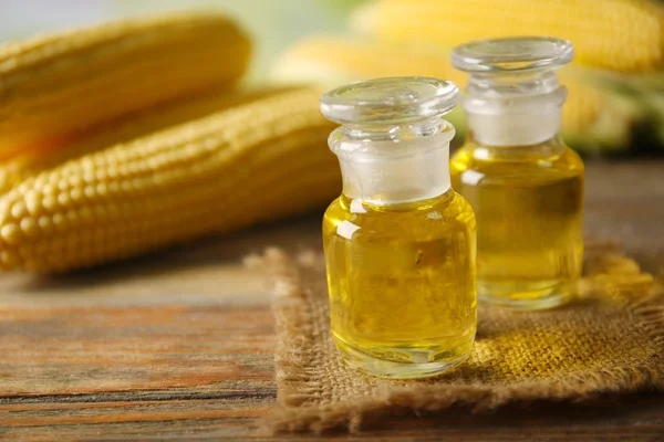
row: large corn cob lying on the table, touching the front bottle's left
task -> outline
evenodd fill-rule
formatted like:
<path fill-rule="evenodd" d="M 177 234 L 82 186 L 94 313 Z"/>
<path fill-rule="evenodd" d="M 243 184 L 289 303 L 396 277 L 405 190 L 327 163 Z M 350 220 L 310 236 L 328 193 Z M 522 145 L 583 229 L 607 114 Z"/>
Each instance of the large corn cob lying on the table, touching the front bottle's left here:
<path fill-rule="evenodd" d="M 320 94 L 281 92 L 25 179 L 0 197 L 0 269 L 90 266 L 329 201 L 340 177 Z"/>

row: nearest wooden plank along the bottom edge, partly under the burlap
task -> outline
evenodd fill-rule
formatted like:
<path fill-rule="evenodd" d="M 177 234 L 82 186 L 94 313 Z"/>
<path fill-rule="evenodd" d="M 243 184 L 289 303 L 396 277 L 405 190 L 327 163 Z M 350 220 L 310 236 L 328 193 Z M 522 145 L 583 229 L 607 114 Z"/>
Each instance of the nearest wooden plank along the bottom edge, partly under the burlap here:
<path fill-rule="evenodd" d="M 311 440 L 310 435 L 270 438 L 252 429 L 267 408 L 239 409 L 232 401 L 128 401 L 104 403 L 22 404 L 10 418 L 11 434 L 25 438 L 113 440 L 251 439 Z M 656 441 L 664 431 L 661 401 L 632 396 L 588 404 L 541 403 L 529 409 L 508 408 L 488 415 L 450 410 L 443 417 L 390 418 L 366 425 L 359 436 L 328 433 L 322 440 L 381 441 Z M 7 420 L 9 422 L 9 419 Z M 9 433 L 6 433 L 9 434 Z M 245 436 L 245 438 L 242 438 Z M 660 439 L 661 440 L 661 439 Z"/>

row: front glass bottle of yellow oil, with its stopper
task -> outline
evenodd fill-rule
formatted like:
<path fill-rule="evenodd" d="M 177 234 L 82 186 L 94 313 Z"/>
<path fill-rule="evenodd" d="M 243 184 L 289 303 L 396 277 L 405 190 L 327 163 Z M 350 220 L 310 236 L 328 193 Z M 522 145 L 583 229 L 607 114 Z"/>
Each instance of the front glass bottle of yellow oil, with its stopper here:
<path fill-rule="evenodd" d="M 476 330 L 475 215 L 449 173 L 458 88 L 425 77 L 332 90 L 323 115 L 343 193 L 323 220 L 332 333 L 367 373 L 422 378 L 458 365 Z"/>

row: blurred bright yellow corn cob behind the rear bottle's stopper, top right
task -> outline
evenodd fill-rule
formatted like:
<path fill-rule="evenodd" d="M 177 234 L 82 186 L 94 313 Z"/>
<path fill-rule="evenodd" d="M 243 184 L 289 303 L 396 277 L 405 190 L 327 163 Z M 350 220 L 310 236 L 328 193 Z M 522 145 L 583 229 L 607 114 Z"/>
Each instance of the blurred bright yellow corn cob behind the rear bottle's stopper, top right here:
<path fill-rule="evenodd" d="M 664 64 L 664 12 L 647 0 L 376 0 L 352 18 L 384 40 L 452 46 L 470 40 L 551 35 L 571 40 L 583 64 L 621 72 Z"/>

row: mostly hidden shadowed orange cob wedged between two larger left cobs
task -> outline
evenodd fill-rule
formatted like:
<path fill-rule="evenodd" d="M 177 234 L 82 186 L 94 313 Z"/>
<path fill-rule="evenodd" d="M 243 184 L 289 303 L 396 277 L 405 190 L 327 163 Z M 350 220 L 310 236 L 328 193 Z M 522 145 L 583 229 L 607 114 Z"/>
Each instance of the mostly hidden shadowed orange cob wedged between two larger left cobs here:
<path fill-rule="evenodd" d="M 102 150 L 116 144 L 131 141 L 169 126 L 197 119 L 234 105 L 277 94 L 279 88 L 258 91 L 214 91 L 185 99 L 169 102 L 138 113 L 129 114 L 97 127 L 52 152 L 35 152 L 14 157 L 0 165 L 0 194 L 18 186 L 28 177 L 54 168 L 85 154 Z"/>

